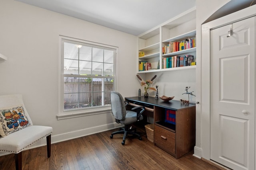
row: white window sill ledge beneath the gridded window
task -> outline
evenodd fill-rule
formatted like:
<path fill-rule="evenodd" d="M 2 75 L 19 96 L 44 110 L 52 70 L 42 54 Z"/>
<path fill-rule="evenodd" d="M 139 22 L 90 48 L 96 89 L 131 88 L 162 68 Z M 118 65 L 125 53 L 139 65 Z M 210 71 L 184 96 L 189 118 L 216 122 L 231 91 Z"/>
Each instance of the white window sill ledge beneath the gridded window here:
<path fill-rule="evenodd" d="M 80 113 L 66 113 L 66 114 L 63 113 L 63 114 L 56 115 L 56 117 L 57 117 L 57 120 L 62 120 L 62 119 L 70 119 L 70 118 L 74 118 L 74 117 L 98 115 L 98 114 L 104 114 L 104 113 L 110 113 L 110 112 L 111 112 L 111 106 L 105 107 L 104 109 L 83 111 Z"/>

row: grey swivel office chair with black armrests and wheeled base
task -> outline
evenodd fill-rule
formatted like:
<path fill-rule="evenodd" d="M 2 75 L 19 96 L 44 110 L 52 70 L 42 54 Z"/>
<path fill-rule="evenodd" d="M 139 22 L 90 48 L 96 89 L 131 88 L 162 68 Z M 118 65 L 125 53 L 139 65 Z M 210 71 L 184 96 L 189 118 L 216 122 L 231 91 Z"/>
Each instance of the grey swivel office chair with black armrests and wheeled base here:
<path fill-rule="evenodd" d="M 130 128 L 130 125 L 132 123 L 135 123 L 136 121 L 140 121 L 143 119 L 143 116 L 141 114 L 145 110 L 145 107 L 139 106 L 133 107 L 132 111 L 126 110 L 128 102 L 124 101 L 123 97 L 118 92 L 110 93 L 110 101 L 112 114 L 116 119 L 116 123 L 124 124 L 124 127 L 121 127 L 119 131 L 113 132 L 110 135 L 110 138 L 112 139 L 113 135 L 115 134 L 124 134 L 122 141 L 122 145 L 124 145 L 126 136 L 128 134 L 131 134 L 138 137 L 138 139 L 141 141 L 142 138 L 138 133 L 136 133 L 136 128 Z"/>

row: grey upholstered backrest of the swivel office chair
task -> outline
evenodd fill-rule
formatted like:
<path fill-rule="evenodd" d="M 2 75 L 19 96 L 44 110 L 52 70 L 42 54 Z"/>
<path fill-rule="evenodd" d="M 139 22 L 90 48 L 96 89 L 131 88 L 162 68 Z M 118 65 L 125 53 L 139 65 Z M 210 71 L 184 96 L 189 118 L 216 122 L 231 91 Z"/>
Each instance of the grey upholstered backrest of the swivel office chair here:
<path fill-rule="evenodd" d="M 111 109 L 115 119 L 122 120 L 126 115 L 126 108 L 122 95 L 118 92 L 110 93 Z"/>

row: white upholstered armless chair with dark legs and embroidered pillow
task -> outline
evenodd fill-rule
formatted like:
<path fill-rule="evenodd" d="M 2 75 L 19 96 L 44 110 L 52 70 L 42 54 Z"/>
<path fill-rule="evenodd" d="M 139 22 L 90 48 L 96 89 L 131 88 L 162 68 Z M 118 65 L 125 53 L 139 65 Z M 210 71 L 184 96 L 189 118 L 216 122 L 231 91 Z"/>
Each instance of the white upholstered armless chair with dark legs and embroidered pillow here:
<path fill-rule="evenodd" d="M 15 154 L 16 170 L 22 169 L 22 151 L 46 137 L 47 156 L 51 156 L 52 127 L 33 125 L 22 96 L 0 96 L 0 152 Z"/>

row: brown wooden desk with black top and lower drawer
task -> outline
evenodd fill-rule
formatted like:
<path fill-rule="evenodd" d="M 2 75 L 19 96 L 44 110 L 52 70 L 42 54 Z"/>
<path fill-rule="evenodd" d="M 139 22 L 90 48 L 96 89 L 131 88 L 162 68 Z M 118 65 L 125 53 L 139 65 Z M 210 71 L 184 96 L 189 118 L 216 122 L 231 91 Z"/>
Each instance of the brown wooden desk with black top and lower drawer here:
<path fill-rule="evenodd" d="M 164 102 L 154 97 L 126 97 L 131 106 L 145 106 L 154 116 L 154 145 L 176 159 L 194 149 L 196 144 L 196 106 L 180 101 Z M 175 123 L 166 121 L 166 111 L 175 115 Z"/>

